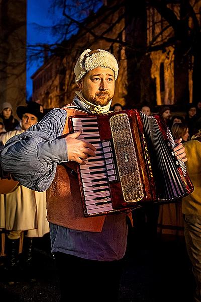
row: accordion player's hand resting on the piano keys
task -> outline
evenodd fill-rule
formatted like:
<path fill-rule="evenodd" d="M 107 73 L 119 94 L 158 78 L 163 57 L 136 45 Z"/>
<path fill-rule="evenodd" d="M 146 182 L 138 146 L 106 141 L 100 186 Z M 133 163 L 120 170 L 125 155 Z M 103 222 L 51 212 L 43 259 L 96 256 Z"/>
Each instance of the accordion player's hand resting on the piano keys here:
<path fill-rule="evenodd" d="M 77 137 L 82 133 L 82 130 L 68 134 L 65 137 L 68 148 L 68 160 L 75 161 L 80 165 L 85 165 L 83 160 L 88 156 L 95 156 L 96 148 L 89 142 L 86 142 Z"/>

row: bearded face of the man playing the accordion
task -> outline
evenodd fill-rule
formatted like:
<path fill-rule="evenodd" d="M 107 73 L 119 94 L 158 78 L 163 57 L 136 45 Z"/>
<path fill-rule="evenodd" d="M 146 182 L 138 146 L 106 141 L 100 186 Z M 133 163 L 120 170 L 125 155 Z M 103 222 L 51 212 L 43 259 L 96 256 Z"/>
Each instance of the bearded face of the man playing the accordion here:
<path fill-rule="evenodd" d="M 78 86 L 87 101 L 106 106 L 115 93 L 114 71 L 106 67 L 89 70 Z"/>

